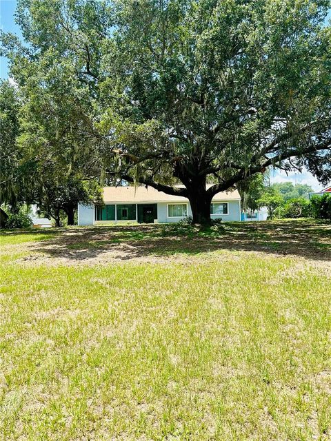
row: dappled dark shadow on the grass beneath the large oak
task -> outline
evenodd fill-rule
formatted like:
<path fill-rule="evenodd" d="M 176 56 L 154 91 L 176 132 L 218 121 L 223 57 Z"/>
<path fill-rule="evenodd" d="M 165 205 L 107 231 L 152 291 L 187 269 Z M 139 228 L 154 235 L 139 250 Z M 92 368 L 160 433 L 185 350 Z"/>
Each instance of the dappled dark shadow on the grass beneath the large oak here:
<path fill-rule="evenodd" d="M 192 225 L 125 225 L 59 231 L 34 243 L 39 258 L 59 263 L 106 263 L 174 256 L 199 256 L 222 250 L 294 255 L 331 262 L 331 223 L 313 220 L 223 223 L 208 229 Z"/>

